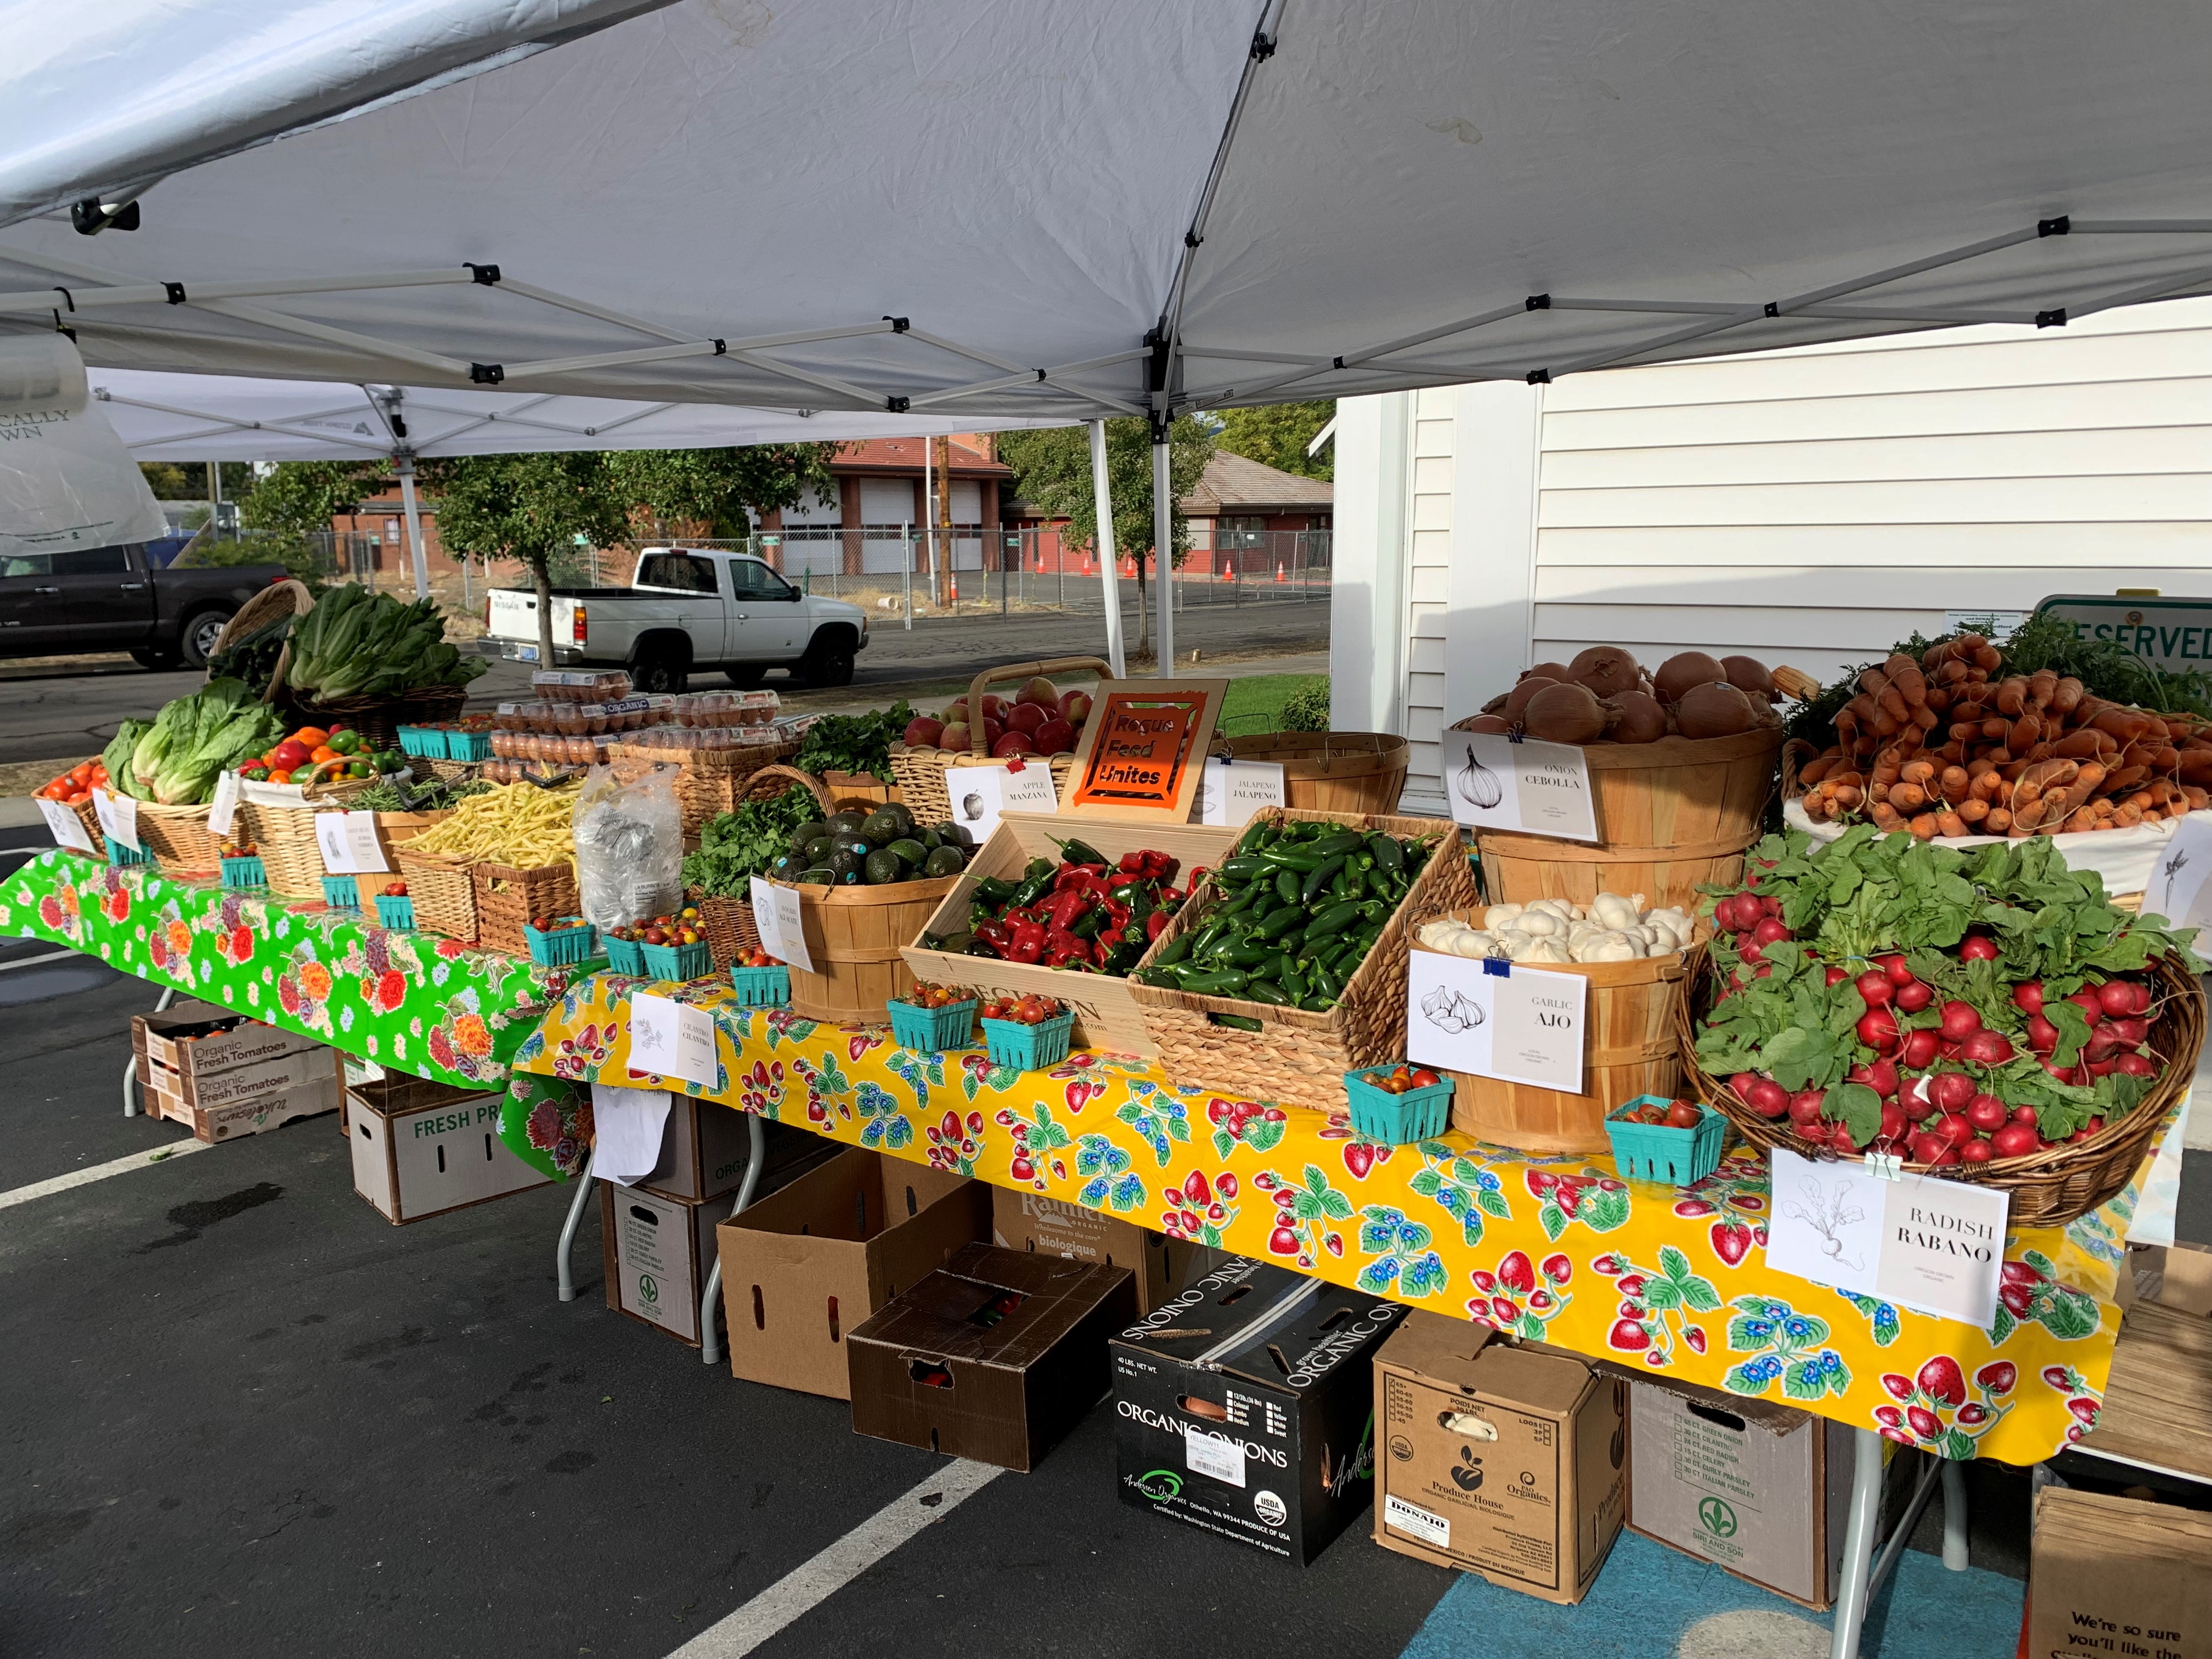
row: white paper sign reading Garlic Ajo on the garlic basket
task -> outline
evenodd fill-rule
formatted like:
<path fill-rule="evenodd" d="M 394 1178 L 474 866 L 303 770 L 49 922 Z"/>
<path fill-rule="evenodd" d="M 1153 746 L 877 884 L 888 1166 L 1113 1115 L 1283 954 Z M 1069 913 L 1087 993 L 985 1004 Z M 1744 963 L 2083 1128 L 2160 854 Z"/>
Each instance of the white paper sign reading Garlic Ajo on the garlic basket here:
<path fill-rule="evenodd" d="M 1405 973 L 1409 1060 L 1582 1093 L 1586 978 L 1440 951 L 1407 951 Z"/>

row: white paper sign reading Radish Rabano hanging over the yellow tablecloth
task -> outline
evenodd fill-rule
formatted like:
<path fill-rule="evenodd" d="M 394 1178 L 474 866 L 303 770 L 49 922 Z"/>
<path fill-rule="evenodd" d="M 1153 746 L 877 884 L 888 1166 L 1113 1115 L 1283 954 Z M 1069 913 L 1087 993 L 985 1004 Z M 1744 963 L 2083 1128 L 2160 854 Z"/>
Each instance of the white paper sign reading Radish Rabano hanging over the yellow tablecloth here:
<path fill-rule="evenodd" d="M 1876 1179 L 1856 1161 L 1772 1155 L 1767 1265 L 1816 1285 L 1989 1329 L 2011 1194 L 1927 1175 Z"/>

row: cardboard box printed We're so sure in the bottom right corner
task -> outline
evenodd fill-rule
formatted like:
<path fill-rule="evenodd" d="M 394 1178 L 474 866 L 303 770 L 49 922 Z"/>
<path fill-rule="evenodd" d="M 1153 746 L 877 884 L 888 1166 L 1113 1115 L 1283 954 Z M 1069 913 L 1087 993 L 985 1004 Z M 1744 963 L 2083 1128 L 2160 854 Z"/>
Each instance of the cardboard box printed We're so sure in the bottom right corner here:
<path fill-rule="evenodd" d="M 2024 1652 L 2212 1659 L 2212 1515 L 2044 1486 Z"/>

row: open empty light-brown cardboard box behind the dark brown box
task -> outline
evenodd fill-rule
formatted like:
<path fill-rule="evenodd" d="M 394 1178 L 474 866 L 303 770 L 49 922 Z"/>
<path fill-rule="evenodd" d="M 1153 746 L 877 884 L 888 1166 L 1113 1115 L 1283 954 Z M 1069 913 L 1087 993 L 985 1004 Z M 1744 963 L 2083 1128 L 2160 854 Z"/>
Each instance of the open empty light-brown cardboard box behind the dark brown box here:
<path fill-rule="evenodd" d="M 991 1188 L 847 1148 L 714 1230 L 730 1376 L 852 1398 L 845 1334 L 991 1237 Z"/>

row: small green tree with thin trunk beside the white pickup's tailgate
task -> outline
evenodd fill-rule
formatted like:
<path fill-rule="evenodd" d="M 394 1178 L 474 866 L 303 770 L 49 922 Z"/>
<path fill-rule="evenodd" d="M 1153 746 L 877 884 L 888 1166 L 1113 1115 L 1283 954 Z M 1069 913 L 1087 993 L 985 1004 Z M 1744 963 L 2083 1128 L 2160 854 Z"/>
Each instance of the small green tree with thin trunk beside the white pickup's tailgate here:
<path fill-rule="evenodd" d="M 453 553 L 518 560 L 538 593 L 538 661 L 553 666 L 553 557 L 577 544 L 615 546 L 630 524 L 606 456 L 462 456 L 420 462 L 438 493 L 438 538 Z"/>

